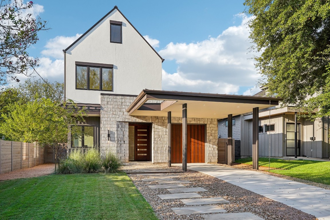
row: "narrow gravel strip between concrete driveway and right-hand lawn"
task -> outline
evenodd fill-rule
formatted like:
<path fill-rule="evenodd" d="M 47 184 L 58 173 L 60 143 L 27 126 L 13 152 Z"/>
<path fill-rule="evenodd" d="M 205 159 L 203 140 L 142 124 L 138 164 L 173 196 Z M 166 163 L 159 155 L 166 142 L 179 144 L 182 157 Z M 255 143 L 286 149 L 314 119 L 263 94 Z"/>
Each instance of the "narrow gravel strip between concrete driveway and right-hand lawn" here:
<path fill-rule="evenodd" d="M 283 179 L 288 179 L 288 180 L 292 180 L 292 181 L 296 181 L 296 182 L 300 182 L 300 183 L 305 183 L 310 186 L 316 186 L 316 187 L 330 190 L 330 185 L 316 183 L 316 182 L 312 182 L 312 181 L 305 180 L 305 179 L 298 179 L 295 177 L 285 176 L 285 175 L 281 175 L 281 174 L 277 174 L 277 173 L 270 173 L 270 172 L 268 172 L 268 167 L 259 167 L 259 170 L 253 170 L 252 165 L 247 165 L 247 164 L 233 164 L 233 166 L 228 166 L 226 164 L 218 164 L 218 163 L 210 163 L 210 164 L 215 164 L 215 165 L 219 165 L 219 166 L 223 166 L 223 167 L 239 168 L 239 169 L 243 169 L 243 170 L 252 170 L 255 172 L 259 172 L 259 173 L 266 173 L 268 175 L 281 177 Z M 273 168 L 273 169 L 275 169 L 275 168 Z"/>

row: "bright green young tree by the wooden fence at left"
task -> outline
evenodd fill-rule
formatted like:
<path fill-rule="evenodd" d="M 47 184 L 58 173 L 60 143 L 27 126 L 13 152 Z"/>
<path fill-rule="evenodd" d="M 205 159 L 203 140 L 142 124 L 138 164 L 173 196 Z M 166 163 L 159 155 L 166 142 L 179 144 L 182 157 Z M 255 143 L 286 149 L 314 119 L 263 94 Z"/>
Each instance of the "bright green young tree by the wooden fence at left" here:
<path fill-rule="evenodd" d="M 59 164 L 68 135 L 75 138 L 82 135 L 77 129 L 71 130 L 71 125 L 77 121 L 84 122 L 86 113 L 78 110 L 73 102 L 64 103 L 61 107 L 50 99 L 42 98 L 25 104 L 14 104 L 11 108 L 9 114 L 2 114 L 4 122 L 0 124 L 1 133 L 11 141 L 38 141 L 41 146 L 52 146 L 55 164 Z"/>

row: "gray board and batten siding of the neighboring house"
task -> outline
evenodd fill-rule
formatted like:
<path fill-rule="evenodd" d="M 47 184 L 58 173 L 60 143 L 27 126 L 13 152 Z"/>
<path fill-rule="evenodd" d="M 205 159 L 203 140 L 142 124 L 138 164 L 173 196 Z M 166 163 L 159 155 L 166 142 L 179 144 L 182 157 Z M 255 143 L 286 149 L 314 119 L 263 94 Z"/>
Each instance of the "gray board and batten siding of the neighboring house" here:
<path fill-rule="evenodd" d="M 271 157 L 285 157 L 287 155 L 287 124 L 294 123 L 294 114 L 272 115 L 270 124 L 274 124 L 275 131 L 259 132 L 259 156 L 269 156 L 269 140 L 271 148 Z M 300 155 L 309 157 L 328 158 L 329 157 L 329 124 L 328 117 L 318 118 L 314 121 L 306 118 L 300 118 L 297 121 L 300 124 Z M 259 126 L 269 124 L 269 117 L 259 118 Z M 241 157 L 250 157 L 252 155 L 252 120 L 249 115 L 243 116 L 241 120 Z M 311 140 L 314 137 L 315 140 Z"/>

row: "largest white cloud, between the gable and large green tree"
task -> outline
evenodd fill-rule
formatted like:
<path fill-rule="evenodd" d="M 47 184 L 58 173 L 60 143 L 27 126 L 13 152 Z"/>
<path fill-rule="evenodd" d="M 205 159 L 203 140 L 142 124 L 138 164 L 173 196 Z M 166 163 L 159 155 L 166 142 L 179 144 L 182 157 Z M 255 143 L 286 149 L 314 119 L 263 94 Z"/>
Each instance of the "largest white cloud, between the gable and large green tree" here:
<path fill-rule="evenodd" d="M 188 80 L 211 81 L 219 87 L 252 87 L 260 76 L 254 69 L 254 60 L 250 59 L 253 54 L 248 53 L 251 44 L 246 23 L 251 17 L 242 14 L 237 17 L 241 23 L 228 27 L 217 37 L 197 43 L 171 42 L 159 54 L 165 60 L 175 60 L 178 64 L 177 73 Z M 192 88 L 193 91 L 198 89 L 199 85 Z"/>

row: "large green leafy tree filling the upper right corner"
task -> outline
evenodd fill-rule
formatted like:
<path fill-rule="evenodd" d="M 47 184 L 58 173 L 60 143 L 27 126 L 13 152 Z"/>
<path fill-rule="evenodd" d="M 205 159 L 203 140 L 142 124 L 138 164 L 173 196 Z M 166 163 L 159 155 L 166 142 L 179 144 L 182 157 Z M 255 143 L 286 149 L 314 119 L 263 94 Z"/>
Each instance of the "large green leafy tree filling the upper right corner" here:
<path fill-rule="evenodd" d="M 268 92 L 330 115 L 330 1 L 246 0 L 256 68 Z M 311 98 L 311 96 L 314 96 Z"/>

